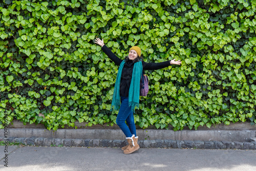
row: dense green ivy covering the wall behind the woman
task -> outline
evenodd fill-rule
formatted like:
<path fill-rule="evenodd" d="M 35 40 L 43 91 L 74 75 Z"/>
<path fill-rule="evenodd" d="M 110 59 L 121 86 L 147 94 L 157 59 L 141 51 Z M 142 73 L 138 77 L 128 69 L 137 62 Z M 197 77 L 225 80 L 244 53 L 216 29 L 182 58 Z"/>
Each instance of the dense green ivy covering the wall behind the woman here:
<path fill-rule="evenodd" d="M 118 67 L 93 43 L 147 62 L 150 92 L 140 127 L 174 130 L 256 123 L 256 1 L 144 0 L 0 3 L 0 123 L 16 118 L 57 130 L 74 122 L 116 123 L 110 112 Z M 45 117 L 42 117 L 44 115 Z M 0 124 L 3 128 L 3 124 Z"/>

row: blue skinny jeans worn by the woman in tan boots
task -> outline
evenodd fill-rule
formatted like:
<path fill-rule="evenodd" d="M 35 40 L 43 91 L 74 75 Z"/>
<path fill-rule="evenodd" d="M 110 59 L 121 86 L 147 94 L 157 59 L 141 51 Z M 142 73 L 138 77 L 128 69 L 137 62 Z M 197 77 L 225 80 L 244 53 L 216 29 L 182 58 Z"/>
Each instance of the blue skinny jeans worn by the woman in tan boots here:
<path fill-rule="evenodd" d="M 136 137 L 136 127 L 132 108 L 129 107 L 129 97 L 120 96 L 121 106 L 116 118 L 116 124 L 120 127 L 126 137 Z M 125 120 L 128 126 L 125 123 Z"/>

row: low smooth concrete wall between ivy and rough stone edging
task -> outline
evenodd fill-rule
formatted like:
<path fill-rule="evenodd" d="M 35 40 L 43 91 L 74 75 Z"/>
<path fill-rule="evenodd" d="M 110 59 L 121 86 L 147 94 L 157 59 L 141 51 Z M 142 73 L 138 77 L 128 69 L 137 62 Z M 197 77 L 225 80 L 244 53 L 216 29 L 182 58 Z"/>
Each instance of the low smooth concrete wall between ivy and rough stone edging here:
<path fill-rule="evenodd" d="M 137 129 L 140 139 L 172 139 L 172 140 L 201 140 L 201 141 L 239 141 L 250 142 L 256 137 L 256 130 L 154 130 Z M 0 130 L 0 136 L 4 135 L 4 129 Z M 14 129 L 8 128 L 8 137 L 44 137 L 60 139 L 109 139 L 125 140 L 121 129 L 58 129 L 57 131 L 47 129 Z"/>

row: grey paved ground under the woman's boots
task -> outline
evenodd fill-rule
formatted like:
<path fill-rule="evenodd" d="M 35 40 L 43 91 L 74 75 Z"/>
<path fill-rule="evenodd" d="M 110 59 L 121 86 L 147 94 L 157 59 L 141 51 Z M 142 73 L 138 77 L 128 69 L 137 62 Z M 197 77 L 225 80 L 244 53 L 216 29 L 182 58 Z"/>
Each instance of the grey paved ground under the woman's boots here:
<path fill-rule="evenodd" d="M 191 170 L 255 171 L 255 150 L 140 148 L 124 155 L 111 147 L 0 146 L 0 170 Z"/>

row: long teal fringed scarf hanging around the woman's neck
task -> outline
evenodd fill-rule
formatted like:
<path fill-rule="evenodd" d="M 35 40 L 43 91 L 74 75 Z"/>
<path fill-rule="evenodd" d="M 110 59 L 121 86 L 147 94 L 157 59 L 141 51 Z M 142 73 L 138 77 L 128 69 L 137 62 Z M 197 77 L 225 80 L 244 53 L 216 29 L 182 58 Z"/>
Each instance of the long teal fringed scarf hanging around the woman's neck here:
<path fill-rule="evenodd" d="M 120 101 L 120 81 L 121 81 L 121 75 L 122 70 L 124 66 L 125 60 L 123 60 L 120 64 L 120 67 L 118 69 L 117 78 L 115 82 L 115 88 L 114 88 L 114 94 L 113 94 L 113 100 L 111 104 L 111 110 L 119 110 L 121 101 Z M 135 107 L 139 108 L 139 97 L 140 97 L 140 78 L 142 74 L 142 62 L 138 61 L 134 63 L 133 68 L 133 76 L 132 81 L 129 89 L 129 106 L 132 107 L 132 111 L 135 111 Z"/>

